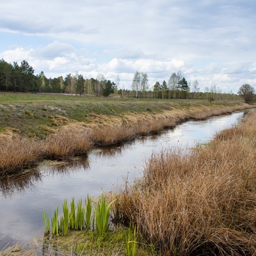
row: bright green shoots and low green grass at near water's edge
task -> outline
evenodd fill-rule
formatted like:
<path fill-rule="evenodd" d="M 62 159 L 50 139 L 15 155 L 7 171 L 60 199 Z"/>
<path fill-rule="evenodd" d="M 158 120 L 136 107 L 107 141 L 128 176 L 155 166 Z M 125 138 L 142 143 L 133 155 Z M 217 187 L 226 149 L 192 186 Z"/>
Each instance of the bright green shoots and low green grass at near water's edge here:
<path fill-rule="evenodd" d="M 52 246 L 58 251 L 73 251 L 78 255 L 154 255 L 152 244 L 138 243 L 136 227 L 115 226 L 109 230 L 110 206 L 113 202 L 108 203 L 102 195 L 95 207 L 92 207 L 92 200 L 87 196 L 86 205 L 83 205 L 80 199 L 76 207 L 73 197 L 69 208 L 65 199 L 62 204 L 63 214 L 58 216 L 58 207 L 54 211 L 51 230 L 49 215 L 44 211 L 42 214 L 45 230 L 44 247 Z M 70 248 L 70 244 L 73 243 L 74 248 Z"/>

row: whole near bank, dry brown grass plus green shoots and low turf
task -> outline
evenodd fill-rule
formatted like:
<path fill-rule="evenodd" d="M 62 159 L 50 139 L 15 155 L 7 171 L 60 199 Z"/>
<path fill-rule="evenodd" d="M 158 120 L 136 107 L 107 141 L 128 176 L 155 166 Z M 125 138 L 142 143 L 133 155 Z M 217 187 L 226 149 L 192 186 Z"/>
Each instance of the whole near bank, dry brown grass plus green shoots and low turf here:
<path fill-rule="evenodd" d="M 140 180 L 125 182 L 116 193 L 106 194 L 106 200 L 95 201 L 94 207 L 87 199 L 84 223 L 93 220 L 92 209 L 98 212 L 98 221 L 104 220 L 99 218 L 102 208 L 101 216 L 109 210 L 115 228 L 102 233 L 95 223 L 90 230 L 89 225 L 67 230 L 63 220 L 60 230 L 65 234 L 51 231 L 46 239 L 51 249 L 45 255 L 255 255 L 255 118 L 256 111 L 251 110 L 241 124 L 219 132 L 189 154 L 179 149 L 152 154 L 145 159 Z M 65 201 L 63 205 L 66 209 Z M 72 212 L 71 205 L 74 202 Z M 22 255 L 19 250 L 16 255 Z M 35 255 L 35 250 L 23 255 Z"/>

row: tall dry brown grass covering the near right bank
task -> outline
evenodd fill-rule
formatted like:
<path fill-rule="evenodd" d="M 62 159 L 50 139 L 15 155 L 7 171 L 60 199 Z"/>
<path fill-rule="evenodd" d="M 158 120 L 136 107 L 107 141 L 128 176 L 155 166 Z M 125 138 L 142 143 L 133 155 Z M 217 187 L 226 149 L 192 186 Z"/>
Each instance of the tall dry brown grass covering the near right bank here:
<path fill-rule="evenodd" d="M 153 154 L 116 218 L 164 255 L 255 255 L 256 111 L 205 148 Z"/>

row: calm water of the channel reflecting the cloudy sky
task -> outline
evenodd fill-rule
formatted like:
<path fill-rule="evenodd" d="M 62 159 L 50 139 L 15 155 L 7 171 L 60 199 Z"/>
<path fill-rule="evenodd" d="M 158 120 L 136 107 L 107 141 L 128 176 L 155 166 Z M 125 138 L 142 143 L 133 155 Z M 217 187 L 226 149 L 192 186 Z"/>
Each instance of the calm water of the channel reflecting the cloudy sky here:
<path fill-rule="evenodd" d="M 53 216 L 63 199 L 70 202 L 86 196 L 111 191 L 124 178 L 140 178 L 143 164 L 152 152 L 173 147 L 195 147 L 209 141 L 216 132 L 236 125 L 243 112 L 214 116 L 204 121 L 189 121 L 157 136 L 143 137 L 120 147 L 95 150 L 88 157 L 56 166 L 41 164 L 38 170 L 1 180 L 0 183 L 0 250 L 8 244 L 29 243 L 33 236 L 44 235 L 42 212 Z"/>

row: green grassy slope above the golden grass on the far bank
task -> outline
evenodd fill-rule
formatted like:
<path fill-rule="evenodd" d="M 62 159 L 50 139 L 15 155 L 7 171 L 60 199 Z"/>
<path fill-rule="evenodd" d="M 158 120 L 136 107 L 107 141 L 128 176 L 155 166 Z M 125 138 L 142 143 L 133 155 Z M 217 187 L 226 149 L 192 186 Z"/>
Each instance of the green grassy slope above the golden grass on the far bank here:
<path fill-rule="evenodd" d="M 99 122 L 95 115 L 122 118 L 126 114 L 172 109 L 243 106 L 238 101 L 116 99 L 32 93 L 0 93 L 0 132 L 12 130 L 22 136 L 45 138 L 49 132 L 71 122 Z"/>

